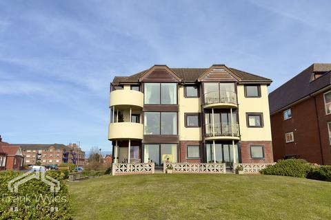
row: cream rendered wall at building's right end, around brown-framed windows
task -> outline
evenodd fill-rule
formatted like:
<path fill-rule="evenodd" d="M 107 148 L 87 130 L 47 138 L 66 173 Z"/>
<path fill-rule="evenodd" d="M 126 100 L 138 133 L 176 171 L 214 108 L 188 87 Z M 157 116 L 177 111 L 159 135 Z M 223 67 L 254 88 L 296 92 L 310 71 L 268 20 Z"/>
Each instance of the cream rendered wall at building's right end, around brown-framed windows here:
<path fill-rule="evenodd" d="M 245 98 L 243 85 L 238 85 L 239 128 L 242 141 L 271 141 L 268 87 L 261 85 L 261 98 Z M 246 113 L 263 113 L 263 128 L 248 128 Z"/>

